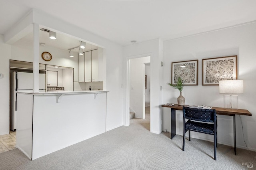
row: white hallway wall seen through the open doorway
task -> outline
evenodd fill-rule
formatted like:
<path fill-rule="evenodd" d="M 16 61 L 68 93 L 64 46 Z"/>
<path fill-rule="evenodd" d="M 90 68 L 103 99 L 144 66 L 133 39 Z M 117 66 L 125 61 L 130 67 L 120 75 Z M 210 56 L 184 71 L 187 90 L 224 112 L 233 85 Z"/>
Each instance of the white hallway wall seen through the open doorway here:
<path fill-rule="evenodd" d="M 135 117 L 143 119 L 144 63 L 150 63 L 150 57 L 130 59 L 130 107 Z"/>

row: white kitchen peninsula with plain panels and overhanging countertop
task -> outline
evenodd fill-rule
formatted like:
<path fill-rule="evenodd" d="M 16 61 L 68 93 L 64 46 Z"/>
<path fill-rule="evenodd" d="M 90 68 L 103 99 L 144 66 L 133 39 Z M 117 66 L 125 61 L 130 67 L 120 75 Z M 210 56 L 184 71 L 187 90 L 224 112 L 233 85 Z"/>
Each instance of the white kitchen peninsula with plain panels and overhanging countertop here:
<path fill-rule="evenodd" d="M 18 92 L 16 147 L 34 160 L 106 132 L 107 92 Z"/>

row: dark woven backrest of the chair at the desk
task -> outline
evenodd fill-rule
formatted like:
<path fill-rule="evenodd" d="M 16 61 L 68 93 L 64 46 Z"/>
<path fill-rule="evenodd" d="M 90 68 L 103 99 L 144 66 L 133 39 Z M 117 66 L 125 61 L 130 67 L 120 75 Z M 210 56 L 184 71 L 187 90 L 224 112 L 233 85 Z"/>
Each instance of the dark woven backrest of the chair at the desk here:
<path fill-rule="evenodd" d="M 201 122 L 216 122 L 215 109 L 197 109 L 183 106 L 184 119 L 190 119 Z"/>

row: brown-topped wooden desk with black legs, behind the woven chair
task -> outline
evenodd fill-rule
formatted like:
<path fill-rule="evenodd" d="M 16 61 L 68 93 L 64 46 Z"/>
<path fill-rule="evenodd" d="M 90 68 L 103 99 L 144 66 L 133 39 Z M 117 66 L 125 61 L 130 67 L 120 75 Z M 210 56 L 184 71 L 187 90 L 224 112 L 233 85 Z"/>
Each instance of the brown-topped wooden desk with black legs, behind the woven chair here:
<path fill-rule="evenodd" d="M 186 106 L 188 105 L 185 105 L 185 107 Z M 174 104 L 173 106 L 162 105 L 162 107 L 171 108 L 171 139 L 172 139 L 176 135 L 176 110 L 182 111 L 182 106 Z M 236 155 L 236 115 L 252 116 L 252 113 L 244 109 L 228 109 L 228 108 L 222 108 L 222 107 L 212 107 L 212 109 L 215 109 L 216 114 L 218 115 L 233 116 L 234 151 Z"/>

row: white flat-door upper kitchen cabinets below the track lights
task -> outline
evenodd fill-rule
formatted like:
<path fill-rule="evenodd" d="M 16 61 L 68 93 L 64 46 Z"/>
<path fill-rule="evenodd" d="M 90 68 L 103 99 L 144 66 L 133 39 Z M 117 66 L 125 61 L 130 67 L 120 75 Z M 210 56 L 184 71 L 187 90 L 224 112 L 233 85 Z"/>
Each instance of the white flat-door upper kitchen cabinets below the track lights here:
<path fill-rule="evenodd" d="M 94 82 L 94 81 L 103 81 L 100 78 L 100 67 L 99 63 L 103 62 L 103 56 L 100 56 L 98 49 L 87 51 L 84 55 L 79 56 L 78 61 L 78 77 L 79 82 Z"/>

